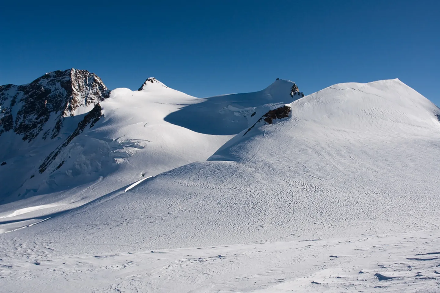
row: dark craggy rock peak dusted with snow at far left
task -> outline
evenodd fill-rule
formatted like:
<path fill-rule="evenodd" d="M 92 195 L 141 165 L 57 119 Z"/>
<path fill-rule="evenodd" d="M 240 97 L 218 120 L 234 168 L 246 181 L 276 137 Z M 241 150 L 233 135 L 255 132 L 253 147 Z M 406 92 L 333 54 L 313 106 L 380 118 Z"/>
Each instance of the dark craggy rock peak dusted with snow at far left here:
<path fill-rule="evenodd" d="M 109 94 L 98 76 L 78 69 L 48 72 L 26 85 L 0 86 L 0 136 L 13 130 L 24 141 L 32 141 L 53 119 L 42 138 L 55 138 L 65 117 L 88 112 L 87 106 Z"/>

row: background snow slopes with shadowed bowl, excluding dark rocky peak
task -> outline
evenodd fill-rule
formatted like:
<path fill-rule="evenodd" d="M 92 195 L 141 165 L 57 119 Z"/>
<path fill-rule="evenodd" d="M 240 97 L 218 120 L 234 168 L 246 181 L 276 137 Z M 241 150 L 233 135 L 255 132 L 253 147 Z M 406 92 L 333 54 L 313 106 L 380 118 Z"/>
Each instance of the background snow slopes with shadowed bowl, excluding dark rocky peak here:
<path fill-rule="evenodd" d="M 9 203 L 0 206 L 0 217 L 19 216 L 12 221 L 60 213 L 125 189 L 145 177 L 204 161 L 232 135 L 206 134 L 181 125 L 188 121 L 193 125 L 209 123 L 213 129 L 228 128 L 229 133 L 233 129 L 232 134 L 237 134 L 258 119 L 252 113 L 292 101 L 292 85 L 276 80 L 260 92 L 224 95 L 221 105 L 218 97 L 194 98 L 154 78 L 148 78 L 137 91 L 113 90 L 98 108 L 65 118 L 56 139 L 36 139 L 29 145 L 25 142 L 17 153 L 4 148 L 7 164 L 1 166 L 0 175 L 7 186 L 2 191 L 3 200 Z M 173 123 L 166 121 L 174 112 L 202 104 L 208 106 L 196 114 L 187 113 Z M 9 146 L 9 141 L 23 144 L 21 137 L 11 131 L 5 136 L 11 138 L 4 141 Z M 30 212 L 15 213 L 18 210 Z M 9 231 L 17 225 L 3 229 Z"/>

